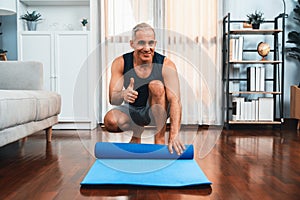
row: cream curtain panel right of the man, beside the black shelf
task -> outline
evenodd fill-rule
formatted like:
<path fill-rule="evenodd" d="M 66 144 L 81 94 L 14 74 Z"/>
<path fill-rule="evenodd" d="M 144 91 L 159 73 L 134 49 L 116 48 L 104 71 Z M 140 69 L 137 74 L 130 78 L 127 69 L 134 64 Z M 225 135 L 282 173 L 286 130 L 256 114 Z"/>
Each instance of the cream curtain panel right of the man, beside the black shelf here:
<path fill-rule="evenodd" d="M 221 33 L 218 31 L 222 2 L 165 2 L 165 27 L 171 30 L 165 40 L 170 52 L 167 55 L 176 63 L 183 79 L 182 123 L 221 124 Z"/>

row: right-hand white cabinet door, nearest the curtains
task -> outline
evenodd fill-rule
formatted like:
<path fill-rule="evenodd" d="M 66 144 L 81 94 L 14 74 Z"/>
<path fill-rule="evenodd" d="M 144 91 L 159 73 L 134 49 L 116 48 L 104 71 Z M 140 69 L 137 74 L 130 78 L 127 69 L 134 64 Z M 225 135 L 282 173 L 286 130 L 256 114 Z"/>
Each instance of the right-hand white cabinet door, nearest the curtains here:
<path fill-rule="evenodd" d="M 58 92 L 62 96 L 62 122 L 90 122 L 88 70 L 88 33 L 57 33 L 55 59 Z"/>

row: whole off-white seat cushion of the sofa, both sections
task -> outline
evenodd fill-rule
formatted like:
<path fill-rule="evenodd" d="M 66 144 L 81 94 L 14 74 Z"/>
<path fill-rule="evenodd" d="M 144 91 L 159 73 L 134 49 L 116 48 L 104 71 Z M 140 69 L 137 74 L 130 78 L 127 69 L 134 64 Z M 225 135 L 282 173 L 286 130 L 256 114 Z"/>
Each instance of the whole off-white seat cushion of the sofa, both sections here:
<path fill-rule="evenodd" d="M 0 90 L 0 130 L 60 113 L 60 95 L 44 90 Z"/>

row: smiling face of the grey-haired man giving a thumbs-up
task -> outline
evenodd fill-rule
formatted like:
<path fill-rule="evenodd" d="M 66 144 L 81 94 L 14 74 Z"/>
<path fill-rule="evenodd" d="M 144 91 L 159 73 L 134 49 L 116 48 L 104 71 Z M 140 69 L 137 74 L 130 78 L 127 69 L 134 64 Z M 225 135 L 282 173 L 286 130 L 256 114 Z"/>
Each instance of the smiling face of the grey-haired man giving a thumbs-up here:
<path fill-rule="evenodd" d="M 130 41 L 134 49 L 134 58 L 138 64 L 152 63 L 156 46 L 155 34 L 152 29 L 141 29 L 135 33 Z"/>

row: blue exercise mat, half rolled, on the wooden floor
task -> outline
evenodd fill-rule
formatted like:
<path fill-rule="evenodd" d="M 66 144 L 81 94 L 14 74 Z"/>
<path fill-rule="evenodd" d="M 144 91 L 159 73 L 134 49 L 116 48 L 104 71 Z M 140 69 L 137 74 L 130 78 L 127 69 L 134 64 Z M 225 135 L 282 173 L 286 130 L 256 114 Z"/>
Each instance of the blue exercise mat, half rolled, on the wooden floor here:
<path fill-rule="evenodd" d="M 211 184 L 193 159 L 193 146 L 178 156 L 166 145 L 103 143 L 95 145 L 96 161 L 81 185 L 181 187 Z"/>

